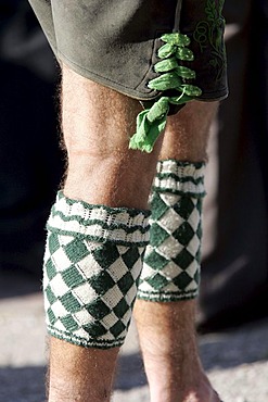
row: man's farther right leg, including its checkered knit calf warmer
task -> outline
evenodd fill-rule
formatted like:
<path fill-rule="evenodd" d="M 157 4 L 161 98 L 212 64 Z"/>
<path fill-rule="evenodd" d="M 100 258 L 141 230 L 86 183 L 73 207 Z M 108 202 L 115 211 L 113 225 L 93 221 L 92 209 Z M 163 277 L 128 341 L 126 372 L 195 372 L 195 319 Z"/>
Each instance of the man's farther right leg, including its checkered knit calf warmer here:
<path fill-rule="evenodd" d="M 154 181 L 151 240 L 135 305 L 153 402 L 219 401 L 199 359 L 194 300 L 203 165 L 216 110 L 217 103 L 192 102 L 168 117 Z"/>

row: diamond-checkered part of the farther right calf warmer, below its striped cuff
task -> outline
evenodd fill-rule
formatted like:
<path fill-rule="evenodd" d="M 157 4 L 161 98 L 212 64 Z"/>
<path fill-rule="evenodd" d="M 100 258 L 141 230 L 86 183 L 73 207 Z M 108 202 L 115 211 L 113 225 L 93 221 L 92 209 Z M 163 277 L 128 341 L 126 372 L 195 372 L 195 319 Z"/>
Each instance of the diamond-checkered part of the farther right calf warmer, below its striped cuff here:
<path fill-rule="evenodd" d="M 165 302 L 193 299 L 200 284 L 202 199 L 155 192 L 151 206 L 158 218 L 151 218 L 138 298 Z"/>

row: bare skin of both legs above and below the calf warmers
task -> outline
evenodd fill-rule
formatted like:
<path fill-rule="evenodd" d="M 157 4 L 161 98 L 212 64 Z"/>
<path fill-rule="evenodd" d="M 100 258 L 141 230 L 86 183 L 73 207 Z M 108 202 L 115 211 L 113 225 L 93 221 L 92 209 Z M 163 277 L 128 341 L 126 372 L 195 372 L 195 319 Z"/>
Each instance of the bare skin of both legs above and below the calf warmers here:
<path fill-rule="evenodd" d="M 150 154 L 128 148 L 138 101 L 62 66 L 66 197 L 91 204 L 148 209 L 158 159 L 206 160 L 216 103 L 191 102 L 168 117 Z M 203 372 L 194 331 L 195 301 L 137 301 L 135 318 L 152 402 L 218 402 Z M 50 339 L 49 402 L 110 401 L 118 348 L 86 349 Z"/>

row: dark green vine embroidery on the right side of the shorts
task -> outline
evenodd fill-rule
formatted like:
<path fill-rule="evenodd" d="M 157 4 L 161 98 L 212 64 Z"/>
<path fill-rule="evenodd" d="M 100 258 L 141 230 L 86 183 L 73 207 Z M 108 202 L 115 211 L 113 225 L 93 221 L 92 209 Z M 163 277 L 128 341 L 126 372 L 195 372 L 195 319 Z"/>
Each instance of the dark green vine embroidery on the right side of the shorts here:
<path fill-rule="evenodd" d="M 206 20 L 200 21 L 193 33 L 201 52 L 210 47 L 209 64 L 215 70 L 216 80 L 220 80 L 226 70 L 226 49 L 222 39 L 225 18 L 221 15 L 225 0 L 207 0 Z"/>

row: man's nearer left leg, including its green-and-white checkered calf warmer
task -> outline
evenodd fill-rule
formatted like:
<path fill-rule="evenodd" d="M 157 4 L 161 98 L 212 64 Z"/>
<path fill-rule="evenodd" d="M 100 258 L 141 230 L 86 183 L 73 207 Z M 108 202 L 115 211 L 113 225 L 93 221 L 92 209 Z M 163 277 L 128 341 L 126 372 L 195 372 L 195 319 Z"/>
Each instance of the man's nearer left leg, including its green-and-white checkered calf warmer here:
<path fill-rule="evenodd" d="M 44 256 L 52 334 L 49 402 L 110 400 L 118 348 L 136 297 L 148 230 L 144 210 L 161 148 L 158 141 L 150 155 L 128 149 L 139 111 L 138 101 L 63 66 L 68 167 L 49 219 Z M 115 314 L 118 321 L 112 326 Z M 122 326 L 125 331 L 118 335 Z"/>

